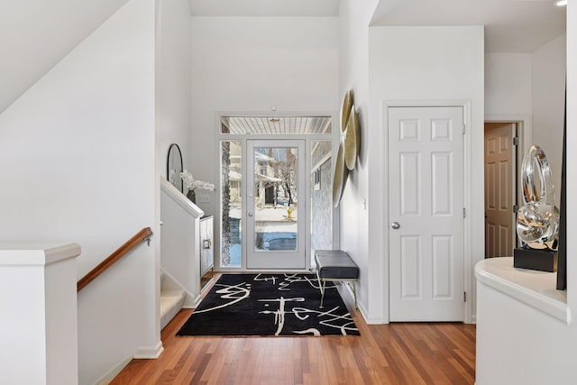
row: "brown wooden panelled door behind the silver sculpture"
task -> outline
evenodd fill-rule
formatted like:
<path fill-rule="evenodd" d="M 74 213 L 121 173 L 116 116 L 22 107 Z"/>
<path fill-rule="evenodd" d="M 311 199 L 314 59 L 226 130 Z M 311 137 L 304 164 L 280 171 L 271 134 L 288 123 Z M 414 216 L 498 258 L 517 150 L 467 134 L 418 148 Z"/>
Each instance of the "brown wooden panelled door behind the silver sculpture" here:
<path fill-rule="evenodd" d="M 512 256 L 516 245 L 516 124 L 485 124 L 485 255 Z"/>

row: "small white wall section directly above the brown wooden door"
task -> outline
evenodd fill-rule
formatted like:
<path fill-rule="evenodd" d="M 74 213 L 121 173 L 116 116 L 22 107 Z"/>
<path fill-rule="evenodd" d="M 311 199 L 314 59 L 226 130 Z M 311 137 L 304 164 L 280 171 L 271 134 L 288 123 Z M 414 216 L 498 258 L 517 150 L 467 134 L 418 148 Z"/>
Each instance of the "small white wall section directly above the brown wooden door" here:
<path fill-rule="evenodd" d="M 531 53 L 487 52 L 485 55 L 485 116 L 530 115 Z"/>

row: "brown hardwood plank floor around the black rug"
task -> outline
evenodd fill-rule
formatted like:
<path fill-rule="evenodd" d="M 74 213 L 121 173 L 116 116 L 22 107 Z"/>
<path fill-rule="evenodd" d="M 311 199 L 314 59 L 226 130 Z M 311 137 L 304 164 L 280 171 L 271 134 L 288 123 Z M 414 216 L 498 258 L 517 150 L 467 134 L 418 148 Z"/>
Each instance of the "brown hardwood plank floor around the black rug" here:
<path fill-rule="evenodd" d="M 133 360 L 111 384 L 472 384 L 475 326 L 366 325 L 361 336 L 177 337 L 162 331 L 157 360 Z"/>

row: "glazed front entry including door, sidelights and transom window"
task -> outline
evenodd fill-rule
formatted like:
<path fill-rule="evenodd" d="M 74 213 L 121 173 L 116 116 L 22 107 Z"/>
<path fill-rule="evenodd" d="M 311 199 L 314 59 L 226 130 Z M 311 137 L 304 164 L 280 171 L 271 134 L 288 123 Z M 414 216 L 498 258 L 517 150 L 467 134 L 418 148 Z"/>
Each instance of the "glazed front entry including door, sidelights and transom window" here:
<path fill-rule="evenodd" d="M 332 116 L 221 117 L 219 267 L 307 269 L 307 246 L 332 248 L 332 136 Z"/>

